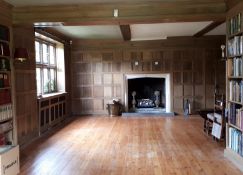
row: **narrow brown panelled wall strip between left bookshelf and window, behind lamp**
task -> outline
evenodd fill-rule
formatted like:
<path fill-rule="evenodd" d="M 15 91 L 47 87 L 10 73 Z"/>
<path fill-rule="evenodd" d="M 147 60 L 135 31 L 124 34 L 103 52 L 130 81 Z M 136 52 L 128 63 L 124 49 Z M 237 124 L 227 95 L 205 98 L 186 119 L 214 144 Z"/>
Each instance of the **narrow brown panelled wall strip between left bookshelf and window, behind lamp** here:
<path fill-rule="evenodd" d="M 34 28 L 14 27 L 14 48 L 27 48 L 29 59 L 14 62 L 16 115 L 20 145 L 38 136 L 37 96 L 35 78 Z"/>

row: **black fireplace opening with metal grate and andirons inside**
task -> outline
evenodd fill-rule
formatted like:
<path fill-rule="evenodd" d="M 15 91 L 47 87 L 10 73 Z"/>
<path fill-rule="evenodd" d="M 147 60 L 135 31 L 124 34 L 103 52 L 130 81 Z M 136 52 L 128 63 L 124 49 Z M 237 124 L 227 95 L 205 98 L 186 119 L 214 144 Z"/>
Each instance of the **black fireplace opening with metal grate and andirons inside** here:
<path fill-rule="evenodd" d="M 128 109 L 161 108 L 166 106 L 165 78 L 141 77 L 128 79 Z"/>

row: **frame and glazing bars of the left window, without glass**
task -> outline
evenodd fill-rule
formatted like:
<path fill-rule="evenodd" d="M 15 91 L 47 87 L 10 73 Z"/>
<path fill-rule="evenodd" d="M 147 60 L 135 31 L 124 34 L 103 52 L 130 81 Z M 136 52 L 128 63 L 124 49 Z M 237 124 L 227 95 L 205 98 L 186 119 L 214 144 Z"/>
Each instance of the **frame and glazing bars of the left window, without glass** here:
<path fill-rule="evenodd" d="M 44 40 L 39 37 L 35 37 L 35 43 L 39 43 L 39 57 L 40 61 L 36 61 L 36 44 L 35 44 L 35 64 L 36 64 L 36 71 L 39 68 L 40 69 L 40 93 L 37 91 L 37 95 L 45 95 L 50 93 L 56 93 L 57 90 L 57 54 L 56 54 L 56 43 Z M 44 63 L 43 60 L 43 44 L 47 45 L 47 63 Z M 54 56 L 54 64 L 50 63 L 50 47 L 53 47 L 53 56 Z M 54 70 L 54 89 L 52 90 L 51 83 L 48 84 L 48 91 L 45 91 L 45 85 L 44 85 L 44 69 L 47 69 L 48 71 L 48 82 L 50 82 L 51 79 L 51 70 Z M 37 78 L 36 78 L 36 84 L 37 84 Z M 37 84 L 38 86 L 38 84 Z M 37 87 L 38 88 L 38 87 Z"/>

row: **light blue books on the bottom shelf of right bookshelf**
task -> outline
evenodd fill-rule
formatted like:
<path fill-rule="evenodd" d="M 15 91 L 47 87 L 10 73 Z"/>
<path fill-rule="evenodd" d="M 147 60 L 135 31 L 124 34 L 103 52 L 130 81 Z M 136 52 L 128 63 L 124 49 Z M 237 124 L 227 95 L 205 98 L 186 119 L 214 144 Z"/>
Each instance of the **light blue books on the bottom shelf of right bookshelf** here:
<path fill-rule="evenodd" d="M 229 127 L 229 148 L 243 156 L 243 138 L 241 131 Z"/>

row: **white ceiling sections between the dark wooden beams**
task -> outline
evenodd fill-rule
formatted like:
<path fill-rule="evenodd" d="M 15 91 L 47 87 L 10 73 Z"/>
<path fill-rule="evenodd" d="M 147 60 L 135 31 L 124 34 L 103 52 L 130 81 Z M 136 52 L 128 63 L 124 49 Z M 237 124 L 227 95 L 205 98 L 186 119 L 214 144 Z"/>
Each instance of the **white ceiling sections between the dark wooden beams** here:
<path fill-rule="evenodd" d="M 174 36 L 193 36 L 210 23 L 211 21 L 131 24 L 131 40 L 158 40 Z M 54 28 L 68 37 L 76 39 L 122 39 L 118 25 L 56 26 Z M 226 25 L 224 23 L 206 35 L 225 35 L 225 33 Z"/>

